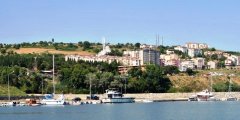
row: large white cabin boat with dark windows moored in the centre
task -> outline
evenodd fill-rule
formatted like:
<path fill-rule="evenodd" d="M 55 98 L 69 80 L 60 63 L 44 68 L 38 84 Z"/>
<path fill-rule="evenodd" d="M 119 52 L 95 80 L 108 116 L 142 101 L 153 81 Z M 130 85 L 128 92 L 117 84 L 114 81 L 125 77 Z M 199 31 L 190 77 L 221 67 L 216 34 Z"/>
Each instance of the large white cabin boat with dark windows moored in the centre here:
<path fill-rule="evenodd" d="M 103 103 L 133 103 L 134 98 L 133 97 L 124 97 L 122 93 L 113 90 L 108 89 L 106 90 L 107 98 L 103 98 Z"/>

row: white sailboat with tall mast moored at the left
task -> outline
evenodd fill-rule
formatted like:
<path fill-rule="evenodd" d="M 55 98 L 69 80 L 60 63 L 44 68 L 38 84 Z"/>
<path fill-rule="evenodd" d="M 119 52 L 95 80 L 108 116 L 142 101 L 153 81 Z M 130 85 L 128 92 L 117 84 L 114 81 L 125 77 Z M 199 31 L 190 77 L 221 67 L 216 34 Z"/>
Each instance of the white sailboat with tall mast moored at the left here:
<path fill-rule="evenodd" d="M 54 95 L 46 94 L 45 98 L 41 100 L 42 105 L 65 105 L 64 95 L 60 95 L 59 98 L 55 99 Z"/>

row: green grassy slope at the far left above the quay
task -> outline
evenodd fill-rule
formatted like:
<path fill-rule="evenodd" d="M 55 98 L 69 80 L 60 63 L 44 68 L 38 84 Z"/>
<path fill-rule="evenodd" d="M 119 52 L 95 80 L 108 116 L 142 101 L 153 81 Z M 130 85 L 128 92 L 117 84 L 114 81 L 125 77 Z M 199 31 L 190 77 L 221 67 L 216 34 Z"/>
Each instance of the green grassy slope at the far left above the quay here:
<path fill-rule="evenodd" d="M 16 87 L 10 86 L 11 96 L 26 96 L 27 94 L 19 90 Z M 5 85 L 0 85 L 0 96 L 8 96 L 8 87 Z"/>

